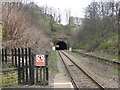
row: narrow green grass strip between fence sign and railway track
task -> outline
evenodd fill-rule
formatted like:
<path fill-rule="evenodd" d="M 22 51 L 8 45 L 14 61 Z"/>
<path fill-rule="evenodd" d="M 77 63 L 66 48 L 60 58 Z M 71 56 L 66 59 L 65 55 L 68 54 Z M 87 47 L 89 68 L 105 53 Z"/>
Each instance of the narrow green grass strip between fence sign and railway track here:
<path fill-rule="evenodd" d="M 49 72 L 58 72 L 56 51 L 50 51 L 48 57 Z"/>

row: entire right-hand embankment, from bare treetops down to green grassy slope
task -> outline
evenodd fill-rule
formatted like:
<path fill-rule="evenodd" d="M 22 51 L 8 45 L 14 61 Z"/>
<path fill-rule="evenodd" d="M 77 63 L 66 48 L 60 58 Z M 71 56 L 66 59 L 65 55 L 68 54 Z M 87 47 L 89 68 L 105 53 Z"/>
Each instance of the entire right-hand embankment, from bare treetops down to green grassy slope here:
<path fill-rule="evenodd" d="M 72 37 L 74 49 L 118 55 L 118 2 L 92 2 L 85 10 L 80 29 Z M 109 9 L 107 9 L 107 8 Z"/>

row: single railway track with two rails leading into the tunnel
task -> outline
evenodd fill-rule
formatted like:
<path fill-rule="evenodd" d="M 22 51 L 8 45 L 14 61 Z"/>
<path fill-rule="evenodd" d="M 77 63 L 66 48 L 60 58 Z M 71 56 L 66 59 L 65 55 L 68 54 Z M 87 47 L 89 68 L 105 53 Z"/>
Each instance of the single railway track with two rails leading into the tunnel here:
<path fill-rule="evenodd" d="M 86 73 L 86 71 L 84 71 L 69 55 L 63 51 L 58 51 L 58 53 L 76 90 L 79 90 L 80 88 L 97 88 L 98 90 L 105 90 L 102 85 Z"/>

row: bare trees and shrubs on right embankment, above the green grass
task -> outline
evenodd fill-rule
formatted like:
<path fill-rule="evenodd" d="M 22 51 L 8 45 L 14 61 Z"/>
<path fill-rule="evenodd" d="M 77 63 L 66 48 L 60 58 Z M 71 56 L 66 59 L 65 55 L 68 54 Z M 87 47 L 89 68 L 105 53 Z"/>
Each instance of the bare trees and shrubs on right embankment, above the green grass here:
<path fill-rule="evenodd" d="M 92 2 L 85 10 L 85 18 L 75 34 L 78 47 L 94 51 L 112 34 L 118 33 L 119 2 Z M 117 46 L 116 46 L 117 47 Z"/>

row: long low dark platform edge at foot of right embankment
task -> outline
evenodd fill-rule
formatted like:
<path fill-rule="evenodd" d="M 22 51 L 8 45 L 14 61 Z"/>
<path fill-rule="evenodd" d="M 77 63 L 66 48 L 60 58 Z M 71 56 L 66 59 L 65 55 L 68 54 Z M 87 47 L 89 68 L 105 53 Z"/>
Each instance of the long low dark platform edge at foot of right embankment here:
<path fill-rule="evenodd" d="M 118 68 L 120 69 L 120 62 L 119 61 L 112 61 L 112 60 L 108 60 L 108 59 L 104 59 L 104 58 L 101 58 L 101 57 L 97 57 L 97 56 L 94 56 L 94 55 L 90 55 L 90 54 L 86 54 L 86 53 L 82 53 L 82 52 L 78 52 L 78 51 L 72 51 L 74 53 L 78 53 L 84 57 L 90 57 L 90 58 L 94 58 L 94 59 L 97 59 L 99 60 L 100 62 L 104 62 L 108 65 L 111 65 L 115 68 Z"/>

